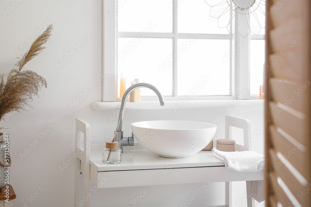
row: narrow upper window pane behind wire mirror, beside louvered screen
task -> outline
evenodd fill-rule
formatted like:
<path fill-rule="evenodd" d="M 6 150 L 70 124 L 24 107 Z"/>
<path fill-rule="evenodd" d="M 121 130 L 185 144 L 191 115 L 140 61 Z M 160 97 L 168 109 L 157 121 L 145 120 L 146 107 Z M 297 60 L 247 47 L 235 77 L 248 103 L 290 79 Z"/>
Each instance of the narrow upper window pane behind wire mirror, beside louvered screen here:
<path fill-rule="evenodd" d="M 253 5 L 254 11 L 250 13 L 251 32 L 254 34 L 265 34 L 266 27 L 266 12 L 265 2 L 262 0 L 255 2 Z"/>

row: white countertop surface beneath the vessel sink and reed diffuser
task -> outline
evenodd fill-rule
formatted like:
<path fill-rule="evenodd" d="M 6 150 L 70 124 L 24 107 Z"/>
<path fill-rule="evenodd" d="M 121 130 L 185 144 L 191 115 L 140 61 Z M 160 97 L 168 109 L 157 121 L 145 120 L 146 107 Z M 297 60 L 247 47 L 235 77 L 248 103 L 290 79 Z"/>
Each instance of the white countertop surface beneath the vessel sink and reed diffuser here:
<path fill-rule="evenodd" d="M 147 150 L 123 150 L 119 164 L 104 164 L 102 151 L 91 151 L 90 164 L 97 171 L 225 166 L 223 161 L 213 156 L 213 151 L 199 151 L 184 158 L 164 158 Z"/>

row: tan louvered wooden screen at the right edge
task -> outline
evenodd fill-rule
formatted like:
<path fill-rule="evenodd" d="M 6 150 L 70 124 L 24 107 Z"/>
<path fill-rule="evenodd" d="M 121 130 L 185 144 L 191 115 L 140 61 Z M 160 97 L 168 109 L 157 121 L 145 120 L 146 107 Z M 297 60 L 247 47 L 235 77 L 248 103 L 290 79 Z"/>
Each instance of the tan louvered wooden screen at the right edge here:
<path fill-rule="evenodd" d="M 310 0 L 266 5 L 266 206 L 311 207 Z"/>

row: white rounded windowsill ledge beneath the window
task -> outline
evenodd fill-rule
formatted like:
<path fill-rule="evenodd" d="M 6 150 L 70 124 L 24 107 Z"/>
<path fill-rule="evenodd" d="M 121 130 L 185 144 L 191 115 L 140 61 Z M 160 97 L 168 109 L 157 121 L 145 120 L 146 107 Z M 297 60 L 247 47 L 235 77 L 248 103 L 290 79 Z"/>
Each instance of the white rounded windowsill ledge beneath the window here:
<path fill-rule="evenodd" d="M 264 100 L 205 100 L 205 101 L 165 101 L 165 106 L 160 106 L 159 101 L 126 102 L 127 110 L 146 109 L 193 109 L 207 107 L 241 107 L 241 106 L 263 106 Z M 116 110 L 120 109 L 121 102 L 93 102 L 91 108 L 94 110 Z"/>

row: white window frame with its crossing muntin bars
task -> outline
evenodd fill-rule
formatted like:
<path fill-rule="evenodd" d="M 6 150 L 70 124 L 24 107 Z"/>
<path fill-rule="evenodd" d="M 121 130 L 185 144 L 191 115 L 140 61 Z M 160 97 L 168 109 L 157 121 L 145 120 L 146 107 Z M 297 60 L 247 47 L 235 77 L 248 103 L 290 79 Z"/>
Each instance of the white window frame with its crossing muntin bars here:
<path fill-rule="evenodd" d="M 203 0 L 202 0 L 203 1 Z M 263 38 L 261 36 L 249 35 L 245 40 L 238 33 L 230 34 L 181 34 L 177 33 L 178 16 L 176 2 L 173 3 L 173 33 L 148 33 L 146 37 L 169 37 L 174 38 L 173 47 L 177 51 L 177 35 L 178 38 L 199 38 L 199 39 L 229 39 L 230 41 L 230 95 L 229 96 L 193 96 L 193 97 L 177 97 L 177 81 L 173 81 L 173 95 L 174 97 L 164 97 L 166 101 L 181 101 L 185 100 L 232 100 L 232 99 L 259 99 L 258 96 L 250 96 L 249 84 L 249 46 L 250 39 Z M 119 7 L 122 5 L 119 5 Z M 117 0 L 103 0 L 103 100 L 104 102 L 119 101 L 118 98 L 118 36 L 122 37 L 138 37 L 140 33 L 122 32 L 118 33 L 118 5 Z M 237 16 L 237 15 L 236 15 Z M 236 27 L 234 22 L 233 26 Z M 236 29 L 236 28 L 235 28 Z M 241 44 L 240 44 L 241 43 Z M 243 44 L 242 44 L 243 43 Z M 241 47 L 237 47 L 241 45 Z M 238 48 L 238 49 L 237 49 Z M 173 56 L 174 58 L 174 56 Z M 174 58 L 173 70 L 174 80 L 177 79 L 177 58 Z M 259 90 L 259 88 L 258 88 Z M 141 97 L 141 101 L 156 101 L 157 97 Z"/>

